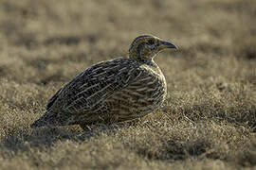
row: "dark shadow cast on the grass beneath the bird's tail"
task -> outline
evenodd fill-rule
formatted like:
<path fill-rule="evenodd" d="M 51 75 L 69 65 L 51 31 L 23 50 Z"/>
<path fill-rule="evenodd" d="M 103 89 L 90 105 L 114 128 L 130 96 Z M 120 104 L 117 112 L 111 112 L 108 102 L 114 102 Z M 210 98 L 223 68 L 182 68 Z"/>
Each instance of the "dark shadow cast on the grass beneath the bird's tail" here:
<path fill-rule="evenodd" d="M 98 126 L 84 131 L 66 127 L 39 127 L 33 130 L 29 128 L 15 129 L 13 132 L 9 131 L 9 134 L 0 141 L 0 146 L 17 153 L 20 150 L 29 150 L 31 147 L 52 147 L 64 141 L 82 143 L 92 137 L 97 138 L 101 133 L 116 132 L 117 129 L 119 129 L 117 126 Z"/>

